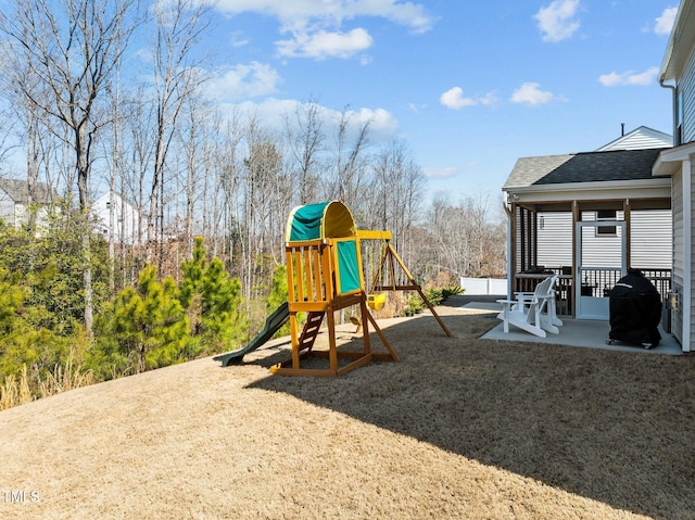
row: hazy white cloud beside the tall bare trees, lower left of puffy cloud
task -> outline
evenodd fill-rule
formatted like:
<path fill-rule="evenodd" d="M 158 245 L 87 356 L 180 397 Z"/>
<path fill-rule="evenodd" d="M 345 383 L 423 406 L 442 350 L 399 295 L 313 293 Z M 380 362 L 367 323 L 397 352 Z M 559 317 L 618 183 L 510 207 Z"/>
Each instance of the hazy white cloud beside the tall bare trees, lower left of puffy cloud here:
<path fill-rule="evenodd" d="M 232 101 L 269 96 L 277 91 L 280 76 L 269 65 L 252 62 L 219 71 L 206 85 L 213 99 Z"/>

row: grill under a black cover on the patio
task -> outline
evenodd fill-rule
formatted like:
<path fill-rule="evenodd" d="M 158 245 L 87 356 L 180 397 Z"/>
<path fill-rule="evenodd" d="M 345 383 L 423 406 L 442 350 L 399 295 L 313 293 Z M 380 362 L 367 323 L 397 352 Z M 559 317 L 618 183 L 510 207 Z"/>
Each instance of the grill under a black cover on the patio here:
<path fill-rule="evenodd" d="M 610 290 L 610 339 L 656 346 L 661 340 L 661 296 L 637 269 L 618 280 Z"/>

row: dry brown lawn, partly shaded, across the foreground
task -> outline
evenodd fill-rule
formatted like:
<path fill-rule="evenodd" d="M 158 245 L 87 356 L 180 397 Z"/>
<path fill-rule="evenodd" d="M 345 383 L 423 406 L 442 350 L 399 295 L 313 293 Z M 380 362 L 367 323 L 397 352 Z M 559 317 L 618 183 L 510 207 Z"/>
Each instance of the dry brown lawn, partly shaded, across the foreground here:
<path fill-rule="evenodd" d="M 341 378 L 270 376 L 278 340 L 1 411 L 0 518 L 693 518 L 695 358 L 439 310 L 455 339 L 383 321 L 401 363 Z"/>

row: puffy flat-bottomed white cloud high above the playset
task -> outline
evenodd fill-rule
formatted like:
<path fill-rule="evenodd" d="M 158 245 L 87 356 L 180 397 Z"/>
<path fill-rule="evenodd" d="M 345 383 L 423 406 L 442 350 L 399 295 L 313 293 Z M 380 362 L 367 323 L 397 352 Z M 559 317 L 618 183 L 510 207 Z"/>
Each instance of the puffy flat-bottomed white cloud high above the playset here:
<path fill-rule="evenodd" d="M 371 47 L 371 36 L 363 28 L 350 33 L 328 33 L 319 30 L 315 34 L 299 34 L 293 39 L 276 42 L 278 54 L 286 58 L 351 58 Z"/>

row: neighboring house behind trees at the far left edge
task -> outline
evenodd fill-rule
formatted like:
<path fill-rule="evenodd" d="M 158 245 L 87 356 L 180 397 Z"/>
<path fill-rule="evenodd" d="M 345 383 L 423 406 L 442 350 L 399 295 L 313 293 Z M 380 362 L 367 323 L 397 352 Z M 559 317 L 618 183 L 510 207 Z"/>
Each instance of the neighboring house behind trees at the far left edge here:
<path fill-rule="evenodd" d="M 0 179 L 0 219 L 15 227 L 26 224 L 29 206 L 35 204 L 37 223 L 46 223 L 49 207 L 58 202 L 58 195 L 43 182 L 37 182 L 33 191 L 29 192 L 26 180 Z"/>

